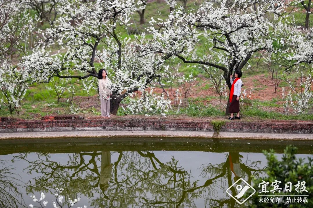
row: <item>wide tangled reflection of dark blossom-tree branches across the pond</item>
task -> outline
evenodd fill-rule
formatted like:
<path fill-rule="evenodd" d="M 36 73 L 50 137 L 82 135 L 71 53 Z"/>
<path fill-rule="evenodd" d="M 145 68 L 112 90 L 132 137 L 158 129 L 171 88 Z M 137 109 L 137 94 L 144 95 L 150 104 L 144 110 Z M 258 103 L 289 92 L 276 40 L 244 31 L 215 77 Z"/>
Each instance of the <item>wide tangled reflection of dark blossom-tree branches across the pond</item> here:
<path fill-rule="evenodd" d="M 203 196 L 209 199 L 206 206 L 234 207 L 229 196 L 217 196 L 218 184 L 223 191 L 232 184 L 234 168 L 230 168 L 229 155 L 226 162 L 219 165 L 202 165 L 202 176 L 209 179 L 198 184 L 199 181 L 192 182 L 191 172 L 180 167 L 174 157 L 162 163 L 151 152 L 118 154 L 117 161 L 112 162 L 110 152 L 106 151 L 73 153 L 64 158 L 67 164 L 52 161 L 50 154 L 37 153 L 35 161 L 29 161 L 27 154 L 20 154 L 29 162 L 29 173 L 42 173 L 35 178 L 35 184 L 29 184 L 27 191 L 48 192 L 55 187 L 63 187 L 65 196 L 76 198 L 77 194 L 83 194 L 93 198 L 91 206 L 94 207 L 196 207 L 194 201 Z M 263 171 L 254 169 L 258 162 L 240 162 L 241 173 L 257 175 Z M 238 165 L 235 165 L 237 169 Z"/>

